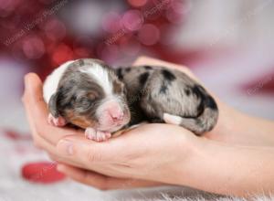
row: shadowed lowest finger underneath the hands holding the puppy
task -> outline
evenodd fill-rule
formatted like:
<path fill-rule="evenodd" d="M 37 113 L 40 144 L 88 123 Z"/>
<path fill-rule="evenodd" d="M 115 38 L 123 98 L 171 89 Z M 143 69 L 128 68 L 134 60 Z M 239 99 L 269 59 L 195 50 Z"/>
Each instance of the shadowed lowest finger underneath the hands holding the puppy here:
<path fill-rule="evenodd" d="M 100 175 L 95 172 L 87 171 L 66 164 L 58 164 L 58 171 L 67 175 L 71 179 L 85 185 L 91 185 L 100 190 L 126 189 L 132 187 L 156 186 L 161 183 L 136 180 L 136 179 L 120 179 L 106 175 Z"/>

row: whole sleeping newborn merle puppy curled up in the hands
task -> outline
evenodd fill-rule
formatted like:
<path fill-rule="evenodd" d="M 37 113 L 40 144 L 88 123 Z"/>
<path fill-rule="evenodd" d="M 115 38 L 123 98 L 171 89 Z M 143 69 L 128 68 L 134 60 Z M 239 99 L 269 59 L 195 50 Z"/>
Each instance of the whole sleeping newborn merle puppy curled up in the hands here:
<path fill-rule="evenodd" d="M 164 67 L 111 69 L 98 59 L 68 61 L 43 87 L 48 122 L 85 129 L 105 141 L 140 122 L 168 122 L 202 134 L 216 125 L 216 101 L 183 72 Z"/>

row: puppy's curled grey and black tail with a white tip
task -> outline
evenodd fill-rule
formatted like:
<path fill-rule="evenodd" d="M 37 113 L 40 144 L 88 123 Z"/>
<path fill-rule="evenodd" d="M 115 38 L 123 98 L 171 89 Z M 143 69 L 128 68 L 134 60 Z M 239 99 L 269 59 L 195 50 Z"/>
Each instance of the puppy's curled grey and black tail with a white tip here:
<path fill-rule="evenodd" d="M 175 125 L 183 126 L 197 135 L 211 131 L 216 125 L 218 119 L 218 109 L 215 100 L 212 97 L 206 97 L 204 111 L 195 118 L 184 118 L 169 113 L 163 113 L 163 121 Z"/>

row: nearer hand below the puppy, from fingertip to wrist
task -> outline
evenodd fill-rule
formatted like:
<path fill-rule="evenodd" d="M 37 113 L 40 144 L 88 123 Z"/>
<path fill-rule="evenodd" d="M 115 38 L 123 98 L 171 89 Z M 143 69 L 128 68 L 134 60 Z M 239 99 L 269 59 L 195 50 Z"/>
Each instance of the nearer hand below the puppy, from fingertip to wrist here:
<path fill-rule="evenodd" d="M 183 128 L 153 123 L 103 143 L 70 135 L 58 142 L 57 149 L 58 157 L 103 175 L 176 184 L 196 140 Z"/>

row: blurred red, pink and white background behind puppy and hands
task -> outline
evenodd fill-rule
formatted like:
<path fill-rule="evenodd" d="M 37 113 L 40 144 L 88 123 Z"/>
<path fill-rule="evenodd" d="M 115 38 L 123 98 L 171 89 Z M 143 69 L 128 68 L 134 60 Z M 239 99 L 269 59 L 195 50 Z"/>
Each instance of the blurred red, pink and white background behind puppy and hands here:
<path fill-rule="evenodd" d="M 70 59 L 115 68 L 145 55 L 187 66 L 221 100 L 274 120 L 273 24 L 274 0 L 0 0 L 0 195 L 15 183 L 13 196 L 26 194 L 34 186 L 20 167 L 47 160 L 31 144 L 20 100 L 26 72 L 45 79 Z"/>

